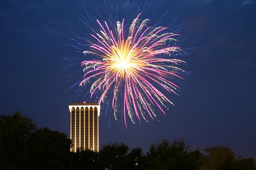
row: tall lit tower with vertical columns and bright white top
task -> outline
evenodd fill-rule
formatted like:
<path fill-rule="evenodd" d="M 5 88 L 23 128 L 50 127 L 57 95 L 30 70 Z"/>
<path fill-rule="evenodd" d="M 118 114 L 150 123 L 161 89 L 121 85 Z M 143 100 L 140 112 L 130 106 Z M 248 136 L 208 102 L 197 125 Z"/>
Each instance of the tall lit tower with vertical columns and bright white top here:
<path fill-rule="evenodd" d="M 70 138 L 72 148 L 99 151 L 99 111 L 98 103 L 72 103 L 70 110 Z"/>

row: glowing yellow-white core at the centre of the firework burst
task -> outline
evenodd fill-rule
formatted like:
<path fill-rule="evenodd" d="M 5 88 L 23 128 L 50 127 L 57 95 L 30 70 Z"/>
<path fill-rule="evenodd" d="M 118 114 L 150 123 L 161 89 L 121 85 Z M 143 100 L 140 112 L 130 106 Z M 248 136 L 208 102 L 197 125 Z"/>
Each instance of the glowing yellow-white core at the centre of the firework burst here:
<path fill-rule="evenodd" d="M 116 45 L 112 45 L 110 53 L 106 53 L 104 60 L 106 63 L 106 69 L 112 71 L 113 74 L 117 74 L 119 77 L 128 78 L 132 75 L 136 75 L 138 70 L 141 70 L 141 66 L 145 64 L 141 60 L 141 50 L 139 48 L 133 48 L 128 41 L 119 41 Z"/>

